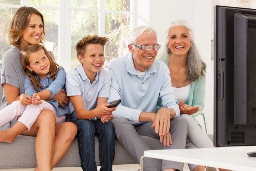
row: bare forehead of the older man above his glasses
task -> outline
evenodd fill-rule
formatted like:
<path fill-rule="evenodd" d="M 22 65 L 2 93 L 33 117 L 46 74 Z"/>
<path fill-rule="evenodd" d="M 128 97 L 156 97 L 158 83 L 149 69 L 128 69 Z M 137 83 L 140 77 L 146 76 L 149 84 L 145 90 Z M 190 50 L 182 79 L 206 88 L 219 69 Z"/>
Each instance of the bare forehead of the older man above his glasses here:
<path fill-rule="evenodd" d="M 157 44 L 156 33 L 154 32 L 144 32 L 137 39 L 136 44 Z"/>

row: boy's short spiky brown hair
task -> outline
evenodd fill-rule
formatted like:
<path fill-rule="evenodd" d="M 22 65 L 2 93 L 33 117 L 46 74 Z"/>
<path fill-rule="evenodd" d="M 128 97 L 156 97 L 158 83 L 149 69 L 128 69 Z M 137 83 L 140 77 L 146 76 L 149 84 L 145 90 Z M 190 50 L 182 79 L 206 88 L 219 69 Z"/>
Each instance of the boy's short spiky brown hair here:
<path fill-rule="evenodd" d="M 98 35 L 87 35 L 82 38 L 79 42 L 76 43 L 76 54 L 84 56 L 86 46 L 89 44 L 100 44 L 103 46 L 108 42 L 108 37 L 100 37 Z"/>

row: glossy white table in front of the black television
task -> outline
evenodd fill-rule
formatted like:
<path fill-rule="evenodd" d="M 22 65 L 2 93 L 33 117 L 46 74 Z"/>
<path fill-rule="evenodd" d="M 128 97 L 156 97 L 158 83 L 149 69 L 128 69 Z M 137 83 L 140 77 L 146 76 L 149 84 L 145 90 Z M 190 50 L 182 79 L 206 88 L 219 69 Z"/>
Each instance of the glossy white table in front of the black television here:
<path fill-rule="evenodd" d="M 247 155 L 253 151 L 256 151 L 256 146 L 148 150 L 141 157 L 140 165 L 142 171 L 143 158 L 149 157 L 237 171 L 256 171 L 256 157 Z"/>

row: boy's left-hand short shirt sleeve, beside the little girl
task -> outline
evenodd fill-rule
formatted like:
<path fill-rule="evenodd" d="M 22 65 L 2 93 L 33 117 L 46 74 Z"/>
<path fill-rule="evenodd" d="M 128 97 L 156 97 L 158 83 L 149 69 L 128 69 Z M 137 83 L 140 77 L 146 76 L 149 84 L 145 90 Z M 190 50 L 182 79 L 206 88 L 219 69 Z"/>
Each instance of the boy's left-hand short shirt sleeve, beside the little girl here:
<path fill-rule="evenodd" d="M 76 76 L 68 73 L 66 76 L 66 91 L 67 96 L 78 96 L 81 95 L 81 86 L 80 83 L 77 82 L 79 79 Z"/>

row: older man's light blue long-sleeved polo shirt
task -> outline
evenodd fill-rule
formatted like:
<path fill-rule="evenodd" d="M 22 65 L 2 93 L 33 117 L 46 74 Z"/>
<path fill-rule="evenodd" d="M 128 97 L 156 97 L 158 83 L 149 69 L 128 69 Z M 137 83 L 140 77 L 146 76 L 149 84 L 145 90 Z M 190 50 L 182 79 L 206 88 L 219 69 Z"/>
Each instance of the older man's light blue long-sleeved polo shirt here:
<path fill-rule="evenodd" d="M 112 76 L 108 102 L 121 99 L 113 112 L 114 117 L 125 117 L 133 125 L 139 122 L 142 111 L 155 113 L 158 97 L 162 99 L 162 106 L 173 108 L 176 116 L 180 109 L 173 95 L 170 71 L 164 62 L 156 59 L 152 66 L 147 68 L 144 79 L 137 73 L 132 54 L 114 58 L 108 66 Z"/>

